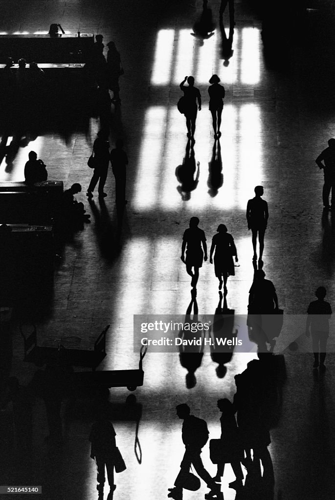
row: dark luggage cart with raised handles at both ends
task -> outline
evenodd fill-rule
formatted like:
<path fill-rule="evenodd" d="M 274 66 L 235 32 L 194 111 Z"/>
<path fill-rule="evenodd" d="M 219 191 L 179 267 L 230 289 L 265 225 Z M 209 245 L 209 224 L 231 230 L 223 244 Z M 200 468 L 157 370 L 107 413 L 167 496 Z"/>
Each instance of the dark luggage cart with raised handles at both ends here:
<path fill-rule="evenodd" d="M 60 363 L 71 366 L 82 366 L 92 368 L 96 367 L 106 356 L 106 333 L 110 324 L 100 333 L 94 344 L 94 349 L 67 349 L 62 344 L 58 347 L 45 347 L 37 344 L 37 330 L 34 329 L 29 335 L 23 332 L 22 324 L 20 324 L 20 332 L 24 338 L 25 357 L 24 361 L 35 363 L 42 366 L 48 360 L 55 360 Z M 142 380 L 143 383 L 143 380 Z"/>

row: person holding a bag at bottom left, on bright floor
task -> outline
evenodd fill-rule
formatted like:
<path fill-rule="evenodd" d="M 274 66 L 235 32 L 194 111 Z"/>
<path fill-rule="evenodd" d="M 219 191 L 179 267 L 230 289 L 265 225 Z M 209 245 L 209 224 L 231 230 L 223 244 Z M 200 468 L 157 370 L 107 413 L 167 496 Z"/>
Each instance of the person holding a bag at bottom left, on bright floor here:
<path fill-rule="evenodd" d="M 116 488 L 114 484 L 115 436 L 116 432 L 114 426 L 107 417 L 107 411 L 103 410 L 98 414 L 97 420 L 92 425 L 89 439 L 92 443 L 91 458 L 95 458 L 97 463 L 97 490 L 99 491 L 99 498 L 103 498 L 106 480 L 105 467 L 107 469 L 107 477 L 110 486 L 107 500 L 113 499 L 113 493 Z"/>

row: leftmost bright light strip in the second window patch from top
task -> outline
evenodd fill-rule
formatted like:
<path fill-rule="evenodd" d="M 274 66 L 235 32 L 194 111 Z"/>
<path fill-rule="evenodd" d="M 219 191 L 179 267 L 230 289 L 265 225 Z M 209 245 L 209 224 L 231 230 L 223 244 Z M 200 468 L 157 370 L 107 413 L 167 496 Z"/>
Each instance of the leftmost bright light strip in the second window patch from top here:
<path fill-rule="evenodd" d="M 167 108 L 152 106 L 146 110 L 134 207 L 147 210 L 157 206 L 161 186 L 162 152 L 164 146 Z"/>

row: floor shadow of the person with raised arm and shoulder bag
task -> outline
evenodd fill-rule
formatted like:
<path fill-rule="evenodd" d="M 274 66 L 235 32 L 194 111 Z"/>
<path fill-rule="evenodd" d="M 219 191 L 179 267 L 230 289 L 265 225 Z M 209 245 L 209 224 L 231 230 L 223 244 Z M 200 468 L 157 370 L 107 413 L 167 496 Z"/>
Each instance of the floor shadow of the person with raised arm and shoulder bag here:
<path fill-rule="evenodd" d="M 176 168 L 176 177 L 181 184 L 177 186 L 177 191 L 181 194 L 184 201 L 191 198 L 191 191 L 194 191 L 198 185 L 200 175 L 199 166 L 200 162 L 195 161 L 191 139 L 188 139 L 183 162 Z"/>

